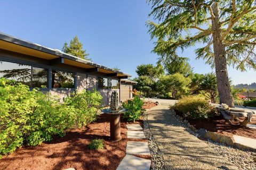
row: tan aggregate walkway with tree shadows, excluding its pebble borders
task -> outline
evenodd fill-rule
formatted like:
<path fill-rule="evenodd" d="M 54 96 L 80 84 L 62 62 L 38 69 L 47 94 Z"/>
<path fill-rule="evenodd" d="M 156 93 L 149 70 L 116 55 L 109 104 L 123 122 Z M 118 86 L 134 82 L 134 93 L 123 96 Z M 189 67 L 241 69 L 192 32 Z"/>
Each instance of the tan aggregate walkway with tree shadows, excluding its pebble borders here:
<path fill-rule="evenodd" d="M 165 169 L 237 169 L 190 134 L 170 112 L 168 106 L 157 106 L 147 112 L 149 128 L 163 154 Z"/>

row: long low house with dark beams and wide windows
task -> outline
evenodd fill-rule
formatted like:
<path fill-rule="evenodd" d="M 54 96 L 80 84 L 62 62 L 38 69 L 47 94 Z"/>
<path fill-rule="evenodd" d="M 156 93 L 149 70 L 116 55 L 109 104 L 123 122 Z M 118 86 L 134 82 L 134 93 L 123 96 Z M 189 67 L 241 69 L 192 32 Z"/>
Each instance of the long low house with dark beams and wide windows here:
<path fill-rule="evenodd" d="M 0 77 L 14 79 L 60 98 L 75 90 L 96 89 L 103 96 L 105 106 L 109 105 L 113 90 L 118 91 L 119 101 L 131 97 L 127 96 L 130 91 L 120 86 L 120 80 L 131 77 L 130 74 L 1 32 Z M 121 91 L 126 97 L 120 96 Z"/>

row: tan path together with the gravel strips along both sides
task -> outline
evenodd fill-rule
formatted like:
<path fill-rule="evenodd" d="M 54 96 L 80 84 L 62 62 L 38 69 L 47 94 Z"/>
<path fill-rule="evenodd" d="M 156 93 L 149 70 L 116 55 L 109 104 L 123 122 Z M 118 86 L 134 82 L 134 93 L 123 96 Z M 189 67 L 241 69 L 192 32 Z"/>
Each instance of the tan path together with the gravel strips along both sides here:
<path fill-rule="evenodd" d="M 145 133 L 152 169 L 256 169 L 255 152 L 199 140 L 167 106 L 147 112 Z"/>

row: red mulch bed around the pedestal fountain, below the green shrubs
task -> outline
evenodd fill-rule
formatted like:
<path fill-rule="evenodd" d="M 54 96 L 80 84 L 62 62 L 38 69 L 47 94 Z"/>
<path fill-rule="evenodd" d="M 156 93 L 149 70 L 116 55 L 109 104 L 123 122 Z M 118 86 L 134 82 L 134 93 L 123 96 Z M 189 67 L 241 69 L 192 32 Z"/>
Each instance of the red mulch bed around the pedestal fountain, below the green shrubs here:
<path fill-rule="evenodd" d="M 111 142 L 108 116 L 102 114 L 96 122 L 85 128 L 71 130 L 65 137 L 54 138 L 41 146 L 24 146 L 17 149 L 13 154 L 3 156 L 0 160 L 0 169 L 116 169 L 125 156 L 127 141 L 147 140 L 127 139 L 127 122 L 121 119 L 122 140 Z M 135 123 L 143 127 L 142 119 Z M 105 149 L 88 149 L 87 146 L 92 139 L 103 139 Z"/>

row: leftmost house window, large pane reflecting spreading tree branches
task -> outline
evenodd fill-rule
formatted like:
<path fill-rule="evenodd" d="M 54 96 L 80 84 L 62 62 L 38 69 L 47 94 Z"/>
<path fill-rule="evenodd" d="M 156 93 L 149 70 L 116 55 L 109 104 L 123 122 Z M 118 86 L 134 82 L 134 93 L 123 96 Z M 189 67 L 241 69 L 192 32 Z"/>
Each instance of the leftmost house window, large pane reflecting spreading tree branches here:
<path fill-rule="evenodd" d="M 31 66 L 0 61 L 0 78 L 2 77 L 31 87 Z"/>

